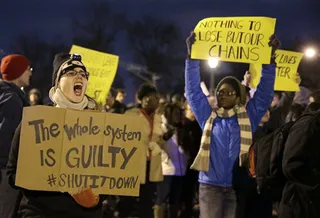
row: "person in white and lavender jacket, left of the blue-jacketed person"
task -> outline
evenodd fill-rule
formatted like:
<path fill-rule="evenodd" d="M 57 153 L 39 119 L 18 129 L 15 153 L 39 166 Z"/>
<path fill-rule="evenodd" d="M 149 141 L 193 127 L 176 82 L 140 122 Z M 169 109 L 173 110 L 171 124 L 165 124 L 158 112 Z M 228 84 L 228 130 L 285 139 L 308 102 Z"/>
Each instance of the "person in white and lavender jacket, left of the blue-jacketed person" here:
<path fill-rule="evenodd" d="M 165 106 L 165 113 L 161 116 L 164 132 L 174 131 L 174 134 L 162 148 L 164 180 L 157 184 L 155 218 L 166 217 L 167 201 L 169 202 L 168 216 L 170 218 L 178 217 L 183 178 L 187 166 L 187 155 L 181 147 L 178 131 L 183 125 L 183 98 L 175 94 L 171 99 L 171 104 Z"/>

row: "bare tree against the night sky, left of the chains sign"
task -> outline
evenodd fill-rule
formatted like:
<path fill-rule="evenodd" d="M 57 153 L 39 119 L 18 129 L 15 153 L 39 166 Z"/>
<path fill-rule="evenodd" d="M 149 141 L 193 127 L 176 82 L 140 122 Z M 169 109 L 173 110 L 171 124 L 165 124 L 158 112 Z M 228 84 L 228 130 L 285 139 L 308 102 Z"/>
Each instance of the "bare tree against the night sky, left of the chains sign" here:
<path fill-rule="evenodd" d="M 128 23 L 127 32 L 128 42 L 134 49 L 136 59 L 148 71 L 161 76 L 163 81 L 159 83 L 160 89 L 171 88 L 173 75 L 179 73 L 183 77 L 184 55 L 181 56 L 181 49 L 184 40 L 174 23 L 144 16 Z M 182 69 L 181 72 L 177 72 L 177 66 Z M 179 80 L 182 77 L 179 76 Z M 183 83 L 183 80 L 179 82 Z"/>

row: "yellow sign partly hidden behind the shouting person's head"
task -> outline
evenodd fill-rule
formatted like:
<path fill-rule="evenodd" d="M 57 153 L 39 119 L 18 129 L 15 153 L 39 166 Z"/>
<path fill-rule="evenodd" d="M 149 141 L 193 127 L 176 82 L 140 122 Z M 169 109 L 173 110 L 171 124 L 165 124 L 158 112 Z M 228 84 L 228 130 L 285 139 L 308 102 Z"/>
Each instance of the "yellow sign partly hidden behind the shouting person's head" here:
<path fill-rule="evenodd" d="M 70 54 L 80 54 L 90 73 L 86 94 L 104 104 L 118 69 L 119 56 L 77 45 L 72 46 Z"/>

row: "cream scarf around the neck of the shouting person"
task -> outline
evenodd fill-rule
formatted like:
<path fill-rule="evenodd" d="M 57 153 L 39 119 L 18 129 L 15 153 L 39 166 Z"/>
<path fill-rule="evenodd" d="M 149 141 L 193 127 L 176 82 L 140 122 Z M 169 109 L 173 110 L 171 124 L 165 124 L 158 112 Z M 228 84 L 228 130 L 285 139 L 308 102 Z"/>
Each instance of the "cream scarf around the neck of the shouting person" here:
<path fill-rule="evenodd" d="M 73 103 L 69 101 L 66 98 L 66 96 L 64 96 L 60 88 L 55 89 L 54 87 L 52 87 L 49 91 L 49 97 L 56 107 L 61 107 L 61 108 L 83 110 L 89 104 L 89 100 L 87 96 L 84 96 L 82 101 L 79 103 Z"/>

